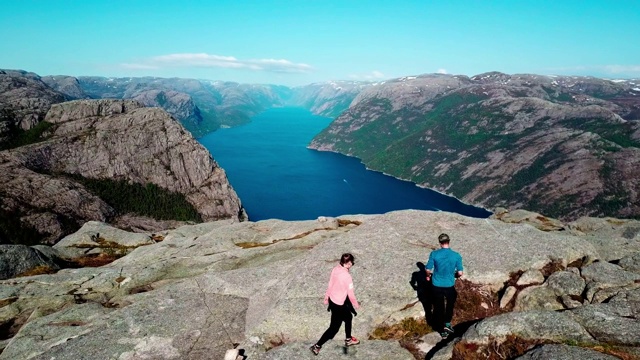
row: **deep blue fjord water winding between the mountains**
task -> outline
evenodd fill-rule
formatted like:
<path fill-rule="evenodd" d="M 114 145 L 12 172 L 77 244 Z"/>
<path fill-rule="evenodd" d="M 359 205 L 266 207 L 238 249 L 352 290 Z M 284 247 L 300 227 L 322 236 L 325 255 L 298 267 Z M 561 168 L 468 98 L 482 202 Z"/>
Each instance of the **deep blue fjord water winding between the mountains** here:
<path fill-rule="evenodd" d="M 226 171 L 251 221 L 400 209 L 490 215 L 436 191 L 367 170 L 356 158 L 307 149 L 330 118 L 301 108 L 278 108 L 251 120 L 198 139 Z"/>

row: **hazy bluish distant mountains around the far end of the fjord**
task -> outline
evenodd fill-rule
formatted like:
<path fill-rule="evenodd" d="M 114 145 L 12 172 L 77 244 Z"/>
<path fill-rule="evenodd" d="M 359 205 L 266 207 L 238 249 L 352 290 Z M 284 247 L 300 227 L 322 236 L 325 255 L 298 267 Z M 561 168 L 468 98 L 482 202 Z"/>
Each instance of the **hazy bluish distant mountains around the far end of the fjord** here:
<path fill-rule="evenodd" d="M 133 99 L 161 107 L 196 137 L 220 127 L 245 124 L 273 107 L 302 106 L 317 115 L 336 117 L 367 86 L 340 81 L 289 88 L 151 77 L 44 76 L 41 80 L 69 99 Z"/>

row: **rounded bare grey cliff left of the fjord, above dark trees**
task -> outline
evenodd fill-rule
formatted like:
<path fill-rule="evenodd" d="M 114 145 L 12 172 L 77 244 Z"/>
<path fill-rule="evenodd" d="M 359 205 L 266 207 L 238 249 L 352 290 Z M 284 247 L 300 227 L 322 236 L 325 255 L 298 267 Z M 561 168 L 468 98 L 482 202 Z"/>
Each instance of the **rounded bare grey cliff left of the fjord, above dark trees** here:
<path fill-rule="evenodd" d="M 224 170 L 161 109 L 76 100 L 52 106 L 45 121 L 52 124 L 45 141 L 0 153 L 0 200 L 50 242 L 87 220 L 123 215 L 78 176 L 154 184 L 182 194 L 203 220 L 246 219 Z"/>

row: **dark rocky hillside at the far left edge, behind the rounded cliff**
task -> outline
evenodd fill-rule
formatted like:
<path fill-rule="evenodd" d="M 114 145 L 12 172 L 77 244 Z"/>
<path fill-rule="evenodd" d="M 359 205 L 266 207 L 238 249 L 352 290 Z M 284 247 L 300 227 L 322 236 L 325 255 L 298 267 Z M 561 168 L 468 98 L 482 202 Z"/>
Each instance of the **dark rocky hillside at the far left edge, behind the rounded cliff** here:
<path fill-rule="evenodd" d="M 44 119 L 52 104 L 67 99 L 34 73 L 0 70 L 0 143 L 31 129 Z"/>

